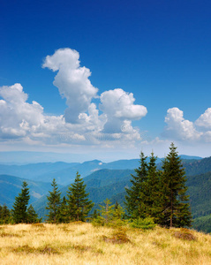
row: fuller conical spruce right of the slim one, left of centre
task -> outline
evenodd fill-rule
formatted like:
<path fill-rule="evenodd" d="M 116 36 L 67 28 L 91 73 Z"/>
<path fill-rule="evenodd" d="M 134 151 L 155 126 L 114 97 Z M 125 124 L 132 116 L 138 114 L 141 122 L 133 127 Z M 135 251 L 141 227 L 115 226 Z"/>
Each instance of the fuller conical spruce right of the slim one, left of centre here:
<path fill-rule="evenodd" d="M 69 216 L 73 221 L 86 221 L 89 211 L 94 206 L 94 203 L 87 198 L 86 186 L 77 172 L 74 183 L 67 191 Z"/>

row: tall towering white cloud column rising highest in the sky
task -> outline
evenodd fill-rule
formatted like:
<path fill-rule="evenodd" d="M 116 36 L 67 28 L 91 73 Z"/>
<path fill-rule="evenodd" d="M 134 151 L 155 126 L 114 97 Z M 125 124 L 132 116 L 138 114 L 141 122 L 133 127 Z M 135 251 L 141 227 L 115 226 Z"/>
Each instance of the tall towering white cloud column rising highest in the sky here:
<path fill-rule="evenodd" d="M 79 52 L 74 49 L 57 49 L 52 56 L 45 58 L 42 67 L 57 71 L 54 85 L 60 95 L 66 99 L 68 108 L 65 110 L 66 122 L 78 123 L 79 114 L 88 110 L 98 89 L 88 79 L 91 72 L 79 66 Z"/>

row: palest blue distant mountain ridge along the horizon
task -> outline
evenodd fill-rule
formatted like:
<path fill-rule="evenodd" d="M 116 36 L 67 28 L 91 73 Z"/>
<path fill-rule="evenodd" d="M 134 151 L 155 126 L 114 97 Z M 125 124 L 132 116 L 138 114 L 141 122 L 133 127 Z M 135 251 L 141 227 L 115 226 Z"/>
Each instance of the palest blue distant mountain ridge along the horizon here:
<path fill-rule="evenodd" d="M 188 155 L 181 155 L 185 157 Z M 198 156 L 190 156 L 192 157 Z M 147 161 L 149 157 L 147 158 Z M 156 163 L 161 163 L 162 158 L 157 158 Z M 111 163 L 102 163 L 100 160 L 87 161 L 84 163 L 30 163 L 26 165 L 5 165 L 0 164 L 0 174 L 7 174 L 19 178 L 28 178 L 31 180 L 51 182 L 56 178 L 57 183 L 60 185 L 70 184 L 79 171 L 81 177 L 85 178 L 96 170 L 109 169 L 109 170 L 133 170 L 139 167 L 139 159 L 130 160 L 117 160 Z"/>

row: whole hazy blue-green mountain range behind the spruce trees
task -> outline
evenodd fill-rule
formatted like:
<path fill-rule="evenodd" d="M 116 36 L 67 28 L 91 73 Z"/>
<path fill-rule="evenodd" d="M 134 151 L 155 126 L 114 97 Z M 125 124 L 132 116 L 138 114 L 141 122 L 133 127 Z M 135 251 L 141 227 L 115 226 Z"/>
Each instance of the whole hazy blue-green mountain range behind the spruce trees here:
<path fill-rule="evenodd" d="M 186 185 L 190 195 L 192 216 L 195 218 L 194 223 L 198 223 L 198 228 L 209 231 L 207 226 L 204 228 L 201 225 L 201 222 L 203 220 L 207 222 L 207 216 L 211 213 L 211 157 L 203 159 L 189 157 L 190 159 L 188 159 L 185 156 L 182 158 L 187 176 Z M 158 168 L 162 166 L 161 161 L 162 159 L 157 160 Z M 11 208 L 14 197 L 20 191 L 23 179 L 26 179 L 30 188 L 31 203 L 33 203 L 39 216 L 45 216 L 47 213 L 45 210 L 46 195 L 52 189 L 50 186 L 52 178 L 58 180 L 57 184 L 59 184 L 62 196 L 64 196 L 75 178 L 76 171 L 79 170 L 79 174 L 81 174 L 87 185 L 86 191 L 89 193 L 89 199 L 94 201 L 95 208 L 106 198 L 109 198 L 112 203 L 118 201 L 123 205 L 125 187 L 131 186 L 131 174 L 134 173 L 134 169 L 137 167 L 139 167 L 139 159 L 120 160 L 112 163 L 102 163 L 94 160 L 85 163 L 0 165 L 0 174 L 2 174 L 0 175 L 0 203 L 6 203 Z M 22 178 L 8 176 L 9 174 L 16 174 L 16 176 L 19 175 Z"/>

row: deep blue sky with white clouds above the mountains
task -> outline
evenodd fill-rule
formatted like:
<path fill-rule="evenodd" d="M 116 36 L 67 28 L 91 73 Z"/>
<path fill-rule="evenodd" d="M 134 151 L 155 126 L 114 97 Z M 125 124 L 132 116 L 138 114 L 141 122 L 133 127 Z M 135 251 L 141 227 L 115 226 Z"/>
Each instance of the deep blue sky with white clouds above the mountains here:
<path fill-rule="evenodd" d="M 211 155 L 210 1 L 0 1 L 1 151 Z"/>

